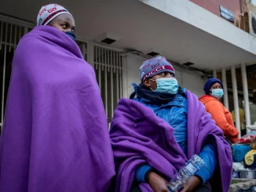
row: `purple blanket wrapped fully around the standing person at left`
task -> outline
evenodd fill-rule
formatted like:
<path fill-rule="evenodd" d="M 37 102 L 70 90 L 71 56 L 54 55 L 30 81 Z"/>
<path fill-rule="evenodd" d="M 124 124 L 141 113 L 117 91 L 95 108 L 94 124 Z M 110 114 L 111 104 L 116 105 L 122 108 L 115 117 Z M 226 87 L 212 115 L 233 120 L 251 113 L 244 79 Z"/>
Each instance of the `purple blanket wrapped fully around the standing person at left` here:
<path fill-rule="evenodd" d="M 53 27 L 21 39 L 0 143 L 1 192 L 107 191 L 115 175 L 93 67 Z"/>

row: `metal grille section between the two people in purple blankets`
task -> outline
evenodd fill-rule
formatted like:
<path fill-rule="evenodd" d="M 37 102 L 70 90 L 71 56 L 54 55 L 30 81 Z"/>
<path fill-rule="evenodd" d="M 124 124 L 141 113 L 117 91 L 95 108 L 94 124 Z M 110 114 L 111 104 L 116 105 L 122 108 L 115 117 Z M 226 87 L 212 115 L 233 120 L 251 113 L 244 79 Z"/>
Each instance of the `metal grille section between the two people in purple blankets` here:
<path fill-rule="evenodd" d="M 94 45 L 94 70 L 101 89 L 104 108 L 110 120 L 124 93 L 123 56 L 120 51 Z"/>

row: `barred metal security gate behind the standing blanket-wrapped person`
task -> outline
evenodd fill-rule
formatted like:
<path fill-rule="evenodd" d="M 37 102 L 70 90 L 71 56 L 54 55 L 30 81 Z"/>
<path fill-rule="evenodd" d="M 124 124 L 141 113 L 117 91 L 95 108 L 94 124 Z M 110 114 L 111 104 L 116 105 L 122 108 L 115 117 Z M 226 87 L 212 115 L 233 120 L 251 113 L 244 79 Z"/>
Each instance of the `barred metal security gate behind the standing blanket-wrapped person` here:
<path fill-rule="evenodd" d="M 23 20 L 0 15 L 0 128 L 5 113 L 5 103 L 11 76 L 13 54 L 20 38 L 35 27 Z M 101 89 L 104 108 L 109 120 L 120 97 L 126 94 L 125 69 L 122 51 L 103 45 L 76 41 L 84 59 L 94 67 Z"/>

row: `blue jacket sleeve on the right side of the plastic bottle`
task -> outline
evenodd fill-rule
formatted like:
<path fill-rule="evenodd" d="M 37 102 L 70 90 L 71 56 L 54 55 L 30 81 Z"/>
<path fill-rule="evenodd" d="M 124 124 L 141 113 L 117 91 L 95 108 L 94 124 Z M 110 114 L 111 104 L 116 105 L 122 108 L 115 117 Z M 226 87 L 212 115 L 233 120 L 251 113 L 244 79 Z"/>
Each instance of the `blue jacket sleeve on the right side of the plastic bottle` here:
<path fill-rule="evenodd" d="M 215 145 L 206 145 L 201 150 L 199 157 L 203 159 L 204 165 L 196 172 L 196 176 L 206 183 L 214 175 L 217 168 L 217 149 Z"/>

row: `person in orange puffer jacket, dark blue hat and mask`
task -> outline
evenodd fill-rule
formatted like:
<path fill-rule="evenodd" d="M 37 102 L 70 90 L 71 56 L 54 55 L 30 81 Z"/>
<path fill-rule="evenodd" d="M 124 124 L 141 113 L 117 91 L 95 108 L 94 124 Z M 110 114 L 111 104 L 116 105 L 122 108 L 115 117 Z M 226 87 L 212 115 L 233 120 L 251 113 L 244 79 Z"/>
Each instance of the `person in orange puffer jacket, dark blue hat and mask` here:
<path fill-rule="evenodd" d="M 239 139 L 239 132 L 232 121 L 231 113 L 220 102 L 224 94 L 222 82 L 218 78 L 210 78 L 203 90 L 206 95 L 202 96 L 199 101 L 205 105 L 216 125 L 224 132 L 224 136 L 232 143 L 236 143 Z"/>

